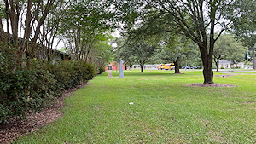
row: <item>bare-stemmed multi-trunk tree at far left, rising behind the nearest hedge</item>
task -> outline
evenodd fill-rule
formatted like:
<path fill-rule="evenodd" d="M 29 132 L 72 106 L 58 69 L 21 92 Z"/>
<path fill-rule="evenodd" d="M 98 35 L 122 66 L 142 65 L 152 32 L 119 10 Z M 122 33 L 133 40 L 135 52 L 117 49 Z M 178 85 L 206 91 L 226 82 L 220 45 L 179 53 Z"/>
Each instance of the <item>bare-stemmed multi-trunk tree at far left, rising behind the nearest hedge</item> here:
<path fill-rule="evenodd" d="M 6 28 L 3 28 L 2 20 L 0 22 L 2 44 L 11 42 L 10 44 L 15 47 L 15 54 L 19 59 L 24 54 L 33 57 L 37 48 L 38 37 L 49 16 L 50 9 L 53 8 L 53 5 L 60 8 L 62 2 L 61 0 L 4 0 Z M 9 37 L 10 34 L 11 38 Z"/>

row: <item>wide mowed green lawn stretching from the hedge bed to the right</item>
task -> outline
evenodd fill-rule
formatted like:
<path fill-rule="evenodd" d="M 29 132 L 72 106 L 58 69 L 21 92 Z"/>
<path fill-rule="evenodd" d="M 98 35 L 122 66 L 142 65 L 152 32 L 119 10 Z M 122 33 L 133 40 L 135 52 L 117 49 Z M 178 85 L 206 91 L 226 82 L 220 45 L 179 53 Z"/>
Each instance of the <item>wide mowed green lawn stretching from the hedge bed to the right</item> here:
<path fill-rule="evenodd" d="M 255 143 L 256 72 L 104 72 L 65 99 L 63 117 L 15 143 Z M 133 105 L 129 103 L 133 102 Z"/>

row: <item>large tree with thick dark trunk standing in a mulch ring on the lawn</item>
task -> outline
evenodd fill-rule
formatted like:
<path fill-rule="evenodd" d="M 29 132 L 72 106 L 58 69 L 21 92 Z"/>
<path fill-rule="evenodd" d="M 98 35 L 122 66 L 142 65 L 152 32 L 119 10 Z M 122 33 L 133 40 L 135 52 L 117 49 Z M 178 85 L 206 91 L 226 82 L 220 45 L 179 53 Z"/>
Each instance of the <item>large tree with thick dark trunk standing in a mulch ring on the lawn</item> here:
<path fill-rule="evenodd" d="M 134 2 L 134 1 L 132 1 Z M 161 19 L 154 25 L 169 25 L 166 31 L 189 37 L 197 43 L 204 66 L 204 83 L 213 83 L 212 55 L 215 42 L 221 33 L 230 27 L 230 17 L 240 14 L 239 2 L 236 0 L 145 0 L 135 7 L 140 14 L 138 19 L 144 19 L 143 14 L 152 13 Z M 135 11 L 136 11 L 135 10 Z M 144 13 L 143 13 L 144 12 Z M 214 36 L 218 26 L 219 34 Z M 207 37 L 210 35 L 210 37 Z"/>

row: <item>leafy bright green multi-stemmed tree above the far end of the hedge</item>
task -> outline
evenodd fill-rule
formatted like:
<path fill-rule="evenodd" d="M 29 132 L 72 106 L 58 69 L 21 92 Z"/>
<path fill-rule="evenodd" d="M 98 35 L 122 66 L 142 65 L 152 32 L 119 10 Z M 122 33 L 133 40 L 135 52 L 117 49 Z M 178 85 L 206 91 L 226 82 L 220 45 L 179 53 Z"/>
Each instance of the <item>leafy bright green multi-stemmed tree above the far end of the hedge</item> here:
<path fill-rule="evenodd" d="M 78 1 L 61 20 L 59 37 L 72 60 L 93 63 L 97 45 L 112 38 L 108 6 L 106 1 Z"/>

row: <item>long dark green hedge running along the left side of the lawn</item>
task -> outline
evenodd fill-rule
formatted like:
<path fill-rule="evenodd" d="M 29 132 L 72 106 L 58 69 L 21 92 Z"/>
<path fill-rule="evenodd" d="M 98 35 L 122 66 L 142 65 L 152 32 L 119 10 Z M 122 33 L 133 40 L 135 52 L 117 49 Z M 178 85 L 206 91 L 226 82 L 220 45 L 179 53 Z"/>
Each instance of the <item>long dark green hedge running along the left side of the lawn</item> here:
<path fill-rule="evenodd" d="M 53 104 L 64 89 L 86 83 L 97 73 L 95 66 L 72 60 L 54 64 L 46 60 L 26 61 L 28 70 L 14 66 L 17 62 L 8 56 L 0 55 L 0 124 L 10 118 L 26 118 L 27 113 L 40 112 Z"/>

